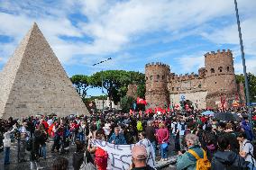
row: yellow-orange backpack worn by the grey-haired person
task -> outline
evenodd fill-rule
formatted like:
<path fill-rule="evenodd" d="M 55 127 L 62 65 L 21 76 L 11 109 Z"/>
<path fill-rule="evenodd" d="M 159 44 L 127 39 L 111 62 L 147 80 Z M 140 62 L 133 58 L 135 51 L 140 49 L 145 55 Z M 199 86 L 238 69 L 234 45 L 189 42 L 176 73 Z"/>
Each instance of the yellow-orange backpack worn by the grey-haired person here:
<path fill-rule="evenodd" d="M 211 162 L 208 160 L 206 156 L 206 151 L 203 148 L 202 150 L 204 152 L 203 158 L 199 157 L 197 153 L 192 149 L 188 149 L 187 152 L 190 153 L 193 157 L 196 157 L 197 159 L 196 170 L 209 170 L 211 168 Z"/>

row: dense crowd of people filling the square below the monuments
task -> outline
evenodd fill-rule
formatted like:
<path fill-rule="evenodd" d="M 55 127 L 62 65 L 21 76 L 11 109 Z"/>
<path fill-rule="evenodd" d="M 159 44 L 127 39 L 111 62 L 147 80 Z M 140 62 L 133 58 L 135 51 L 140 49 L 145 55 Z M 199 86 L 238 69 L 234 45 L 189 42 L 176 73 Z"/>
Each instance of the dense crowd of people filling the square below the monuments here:
<path fill-rule="evenodd" d="M 29 153 L 31 169 L 38 169 L 37 161 L 47 159 L 47 145 L 53 140 L 50 152 L 59 155 L 76 146 L 72 160 L 75 170 L 83 166 L 105 170 L 108 153 L 91 142 L 99 139 L 114 145 L 150 142 L 157 161 L 166 162 L 170 156 L 178 156 L 178 170 L 200 169 L 199 166 L 213 170 L 256 169 L 253 127 L 246 109 L 236 110 L 243 114 L 237 121 L 218 120 L 202 112 L 93 112 L 90 116 L 39 115 L 0 120 L 4 164 L 14 161 L 10 160 L 10 148 L 17 142 L 18 162 L 28 161 Z M 154 169 L 147 166 L 149 152 L 142 145 L 135 145 L 131 154 L 131 169 Z M 66 158 L 57 157 L 52 169 L 64 170 L 68 166 Z"/>

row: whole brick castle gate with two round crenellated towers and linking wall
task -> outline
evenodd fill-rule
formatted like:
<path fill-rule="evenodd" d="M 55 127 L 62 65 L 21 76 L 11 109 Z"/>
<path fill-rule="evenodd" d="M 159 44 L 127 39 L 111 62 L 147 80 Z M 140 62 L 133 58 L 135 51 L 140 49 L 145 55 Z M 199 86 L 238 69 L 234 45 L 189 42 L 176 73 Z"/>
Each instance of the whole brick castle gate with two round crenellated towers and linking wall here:
<path fill-rule="evenodd" d="M 237 85 L 232 51 L 223 49 L 205 54 L 205 67 L 198 73 L 176 75 L 160 62 L 145 66 L 146 94 L 150 107 L 166 108 L 179 105 L 181 100 L 194 103 L 197 109 L 232 106 L 237 98 L 244 103 L 243 86 Z"/>

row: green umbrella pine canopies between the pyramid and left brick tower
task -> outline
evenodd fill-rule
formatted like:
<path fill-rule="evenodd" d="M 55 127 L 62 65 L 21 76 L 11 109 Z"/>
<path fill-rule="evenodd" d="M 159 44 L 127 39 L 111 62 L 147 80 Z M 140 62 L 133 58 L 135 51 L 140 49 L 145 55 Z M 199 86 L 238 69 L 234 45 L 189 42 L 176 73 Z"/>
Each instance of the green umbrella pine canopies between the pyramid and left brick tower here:
<path fill-rule="evenodd" d="M 75 75 L 70 80 L 82 98 L 87 96 L 89 87 L 101 88 L 102 85 L 106 90 L 106 95 L 114 103 L 120 102 L 120 99 L 126 95 L 130 84 L 138 85 L 138 96 L 145 95 L 145 75 L 140 72 L 106 70 L 96 72 L 92 76 Z"/>

